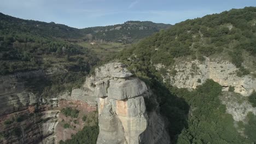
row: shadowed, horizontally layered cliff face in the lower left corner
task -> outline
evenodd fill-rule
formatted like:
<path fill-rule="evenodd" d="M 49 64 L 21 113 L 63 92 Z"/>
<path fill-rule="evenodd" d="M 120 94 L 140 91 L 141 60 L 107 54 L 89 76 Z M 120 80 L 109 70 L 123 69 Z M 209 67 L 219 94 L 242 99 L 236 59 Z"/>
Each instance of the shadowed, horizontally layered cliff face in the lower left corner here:
<path fill-rule="evenodd" d="M 58 111 L 26 88 L 27 79 L 40 76 L 42 70 L 0 77 L 0 143 L 38 143 L 54 133 Z"/>

